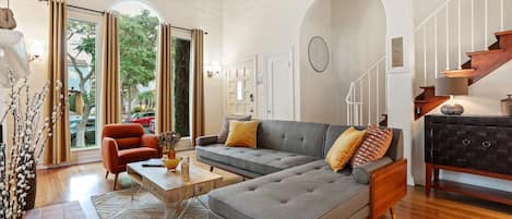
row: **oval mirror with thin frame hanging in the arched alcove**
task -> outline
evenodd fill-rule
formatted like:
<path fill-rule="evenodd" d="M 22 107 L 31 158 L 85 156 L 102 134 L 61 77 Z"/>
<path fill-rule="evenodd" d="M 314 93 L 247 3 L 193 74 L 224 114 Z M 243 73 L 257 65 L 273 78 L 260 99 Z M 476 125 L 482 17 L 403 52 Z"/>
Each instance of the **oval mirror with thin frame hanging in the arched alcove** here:
<path fill-rule="evenodd" d="M 328 42 L 321 36 L 314 36 L 309 40 L 308 57 L 311 68 L 317 72 L 323 72 L 329 65 Z"/>

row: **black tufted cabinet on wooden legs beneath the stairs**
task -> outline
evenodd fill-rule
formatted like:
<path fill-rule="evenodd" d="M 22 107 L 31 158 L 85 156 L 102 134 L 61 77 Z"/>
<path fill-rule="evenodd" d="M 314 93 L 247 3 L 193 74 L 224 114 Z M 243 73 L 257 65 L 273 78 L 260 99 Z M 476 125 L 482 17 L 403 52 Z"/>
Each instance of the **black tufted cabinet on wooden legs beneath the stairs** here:
<path fill-rule="evenodd" d="M 439 179 L 443 169 L 512 181 L 512 118 L 427 115 L 425 162 L 427 195 L 434 187 L 512 205 L 512 193 Z"/>

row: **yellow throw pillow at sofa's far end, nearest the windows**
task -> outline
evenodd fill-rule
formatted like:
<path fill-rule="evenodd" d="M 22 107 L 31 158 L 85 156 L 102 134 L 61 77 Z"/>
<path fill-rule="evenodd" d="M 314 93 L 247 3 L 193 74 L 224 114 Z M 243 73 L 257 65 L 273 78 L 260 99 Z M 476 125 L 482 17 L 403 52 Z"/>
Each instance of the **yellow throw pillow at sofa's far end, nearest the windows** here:
<path fill-rule="evenodd" d="M 226 146 L 257 147 L 258 121 L 229 121 Z"/>

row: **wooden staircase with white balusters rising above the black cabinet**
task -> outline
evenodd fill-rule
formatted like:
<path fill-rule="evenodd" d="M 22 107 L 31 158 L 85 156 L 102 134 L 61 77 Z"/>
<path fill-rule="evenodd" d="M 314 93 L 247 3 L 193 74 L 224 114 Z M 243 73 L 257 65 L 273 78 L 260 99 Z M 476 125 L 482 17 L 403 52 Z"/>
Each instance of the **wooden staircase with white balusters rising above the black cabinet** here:
<path fill-rule="evenodd" d="M 466 1 L 467 2 L 467 1 Z M 451 4 L 452 3 L 452 4 Z M 453 7 L 453 4 L 456 4 Z M 490 74 L 493 72 L 499 66 L 503 65 L 508 61 L 512 60 L 512 31 L 500 31 L 495 33 L 495 37 L 497 39 L 496 42 L 490 45 L 487 48 L 481 48 L 481 49 L 487 49 L 483 51 L 474 51 L 474 52 L 467 52 L 467 57 L 469 60 L 463 63 L 463 58 L 462 58 L 462 50 L 463 49 L 469 49 L 469 50 L 475 50 L 475 44 L 476 41 L 476 34 L 479 34 L 480 36 L 484 35 L 484 40 L 481 41 L 483 44 L 487 45 L 488 40 L 490 37 L 488 37 L 488 29 L 490 28 L 491 24 L 489 23 L 489 13 L 493 13 L 489 11 L 489 1 L 485 0 L 484 1 L 484 7 L 483 9 L 485 10 L 485 17 L 475 17 L 476 10 L 478 10 L 477 7 L 475 7 L 475 0 L 471 1 L 471 35 L 466 36 L 462 34 L 462 22 L 464 19 L 461 15 L 461 10 L 464 8 L 462 5 L 461 0 L 448 0 L 445 3 L 443 3 L 438 10 L 436 10 L 429 17 L 427 17 L 426 21 L 421 22 L 421 24 L 416 28 L 416 35 L 421 35 L 422 34 L 422 41 L 419 40 L 419 44 L 422 44 L 422 59 L 418 60 L 418 57 L 416 58 L 416 61 L 420 64 L 424 65 L 422 68 L 422 73 L 424 77 L 422 78 L 417 78 L 415 84 L 421 84 L 418 82 L 419 80 L 422 80 L 422 86 L 420 86 L 421 93 L 415 98 L 414 105 L 415 105 L 415 119 L 418 120 L 422 115 L 427 114 L 431 110 L 436 109 L 438 106 L 442 105 L 444 101 L 449 99 L 449 97 L 442 97 L 442 96 L 436 96 L 436 87 L 432 85 L 429 85 L 429 76 L 431 77 L 433 75 L 434 78 L 438 76 L 446 76 L 446 77 L 467 77 L 469 78 L 469 85 L 476 83 L 477 81 L 481 80 L 486 75 Z M 500 12 L 499 14 L 501 15 L 501 19 L 499 21 L 499 28 L 503 29 L 504 28 L 504 1 L 500 0 L 499 2 L 500 7 Z M 439 22 L 438 17 L 444 15 L 444 17 L 451 17 L 450 16 L 450 9 L 455 8 L 456 10 L 456 16 L 453 16 L 453 20 L 445 19 L 445 22 Z M 485 27 L 484 27 L 484 33 L 476 33 L 476 26 L 475 26 L 475 19 L 483 19 L 485 20 Z M 456 34 L 456 49 L 453 49 L 450 47 L 450 42 L 453 41 L 453 38 L 450 38 L 450 24 L 457 23 L 455 25 L 455 28 L 457 28 L 457 34 Z M 431 62 L 429 63 L 427 58 L 429 57 L 427 54 L 428 51 L 428 39 L 427 39 L 427 33 L 429 32 L 428 25 L 433 24 L 433 35 L 430 35 L 433 37 L 434 41 L 434 51 L 431 52 L 433 53 L 434 58 L 433 61 L 430 60 Z M 439 36 L 438 31 L 440 29 L 439 26 L 445 25 L 444 27 L 446 32 L 444 33 L 445 35 Z M 495 25 L 496 26 L 496 25 Z M 453 25 L 452 25 L 453 27 Z M 453 37 L 453 36 L 452 36 Z M 465 38 L 463 38 L 465 37 Z M 445 64 L 446 64 L 446 70 L 444 71 L 439 71 L 439 65 L 440 65 L 440 59 L 439 59 L 439 46 L 438 41 L 440 38 L 444 38 L 444 41 L 446 44 L 445 46 L 445 51 L 444 57 Z M 471 44 L 463 45 L 463 41 L 471 41 Z M 481 42 L 478 41 L 478 44 L 481 45 Z M 418 48 L 418 47 L 417 47 Z M 453 56 L 455 54 L 455 56 Z M 452 69 L 452 63 L 453 61 L 451 58 L 456 57 L 457 58 L 457 65 L 459 68 Z M 452 63 L 451 63 L 452 62 Z M 434 74 L 429 74 L 429 66 L 432 66 Z M 418 71 L 418 70 L 417 70 Z M 438 75 L 438 72 L 441 72 L 441 75 Z M 434 78 L 430 81 L 434 82 Z M 432 83 L 432 82 L 430 82 Z"/>

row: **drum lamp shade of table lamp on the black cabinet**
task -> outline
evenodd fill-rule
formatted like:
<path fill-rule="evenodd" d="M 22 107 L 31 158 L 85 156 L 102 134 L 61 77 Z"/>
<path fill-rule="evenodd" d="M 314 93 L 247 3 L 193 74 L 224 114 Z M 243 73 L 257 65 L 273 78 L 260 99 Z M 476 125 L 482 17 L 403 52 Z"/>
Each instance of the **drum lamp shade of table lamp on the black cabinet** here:
<path fill-rule="evenodd" d="M 466 77 L 438 77 L 436 96 L 467 95 L 467 86 Z"/>

